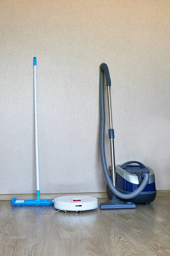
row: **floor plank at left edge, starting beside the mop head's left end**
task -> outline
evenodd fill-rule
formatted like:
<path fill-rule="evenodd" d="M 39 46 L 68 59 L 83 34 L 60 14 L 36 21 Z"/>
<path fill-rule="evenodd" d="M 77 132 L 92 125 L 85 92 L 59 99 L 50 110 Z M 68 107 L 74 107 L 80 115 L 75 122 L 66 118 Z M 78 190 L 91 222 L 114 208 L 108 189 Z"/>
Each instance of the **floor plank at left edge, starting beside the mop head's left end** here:
<path fill-rule="evenodd" d="M 26 212 L 22 207 L 12 207 L 3 201 L 0 211 L 0 240 L 27 239 Z"/>

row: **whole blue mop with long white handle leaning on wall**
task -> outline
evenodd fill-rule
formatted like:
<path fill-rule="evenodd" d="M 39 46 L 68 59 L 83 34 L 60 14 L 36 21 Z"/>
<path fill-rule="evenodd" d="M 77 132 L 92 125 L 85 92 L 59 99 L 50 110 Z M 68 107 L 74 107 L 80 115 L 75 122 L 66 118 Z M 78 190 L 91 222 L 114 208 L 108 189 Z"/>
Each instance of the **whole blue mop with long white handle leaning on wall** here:
<path fill-rule="evenodd" d="M 37 174 L 37 199 L 20 200 L 13 198 L 13 206 L 53 206 L 54 203 L 47 199 L 40 199 L 40 182 L 39 182 L 39 159 L 38 159 L 38 122 L 37 122 L 37 58 L 34 57 L 34 116 L 35 116 L 35 152 L 36 152 L 36 174 Z"/>

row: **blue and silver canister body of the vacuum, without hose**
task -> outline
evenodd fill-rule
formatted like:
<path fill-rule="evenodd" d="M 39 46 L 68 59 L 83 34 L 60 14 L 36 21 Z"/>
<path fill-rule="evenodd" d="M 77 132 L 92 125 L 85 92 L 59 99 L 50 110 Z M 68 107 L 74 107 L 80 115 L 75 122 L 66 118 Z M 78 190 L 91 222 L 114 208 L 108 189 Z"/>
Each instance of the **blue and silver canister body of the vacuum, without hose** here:
<path fill-rule="evenodd" d="M 144 164 L 137 161 L 129 161 L 122 166 L 116 166 L 116 189 L 124 194 L 128 194 L 136 190 L 143 179 L 143 174 L 149 174 L 149 182 L 144 190 L 135 198 L 123 201 L 131 201 L 135 204 L 147 204 L 156 198 L 156 184 L 153 170 L 144 166 Z M 113 198 L 113 193 L 108 187 L 108 197 Z M 122 199 L 121 199 L 122 200 Z"/>

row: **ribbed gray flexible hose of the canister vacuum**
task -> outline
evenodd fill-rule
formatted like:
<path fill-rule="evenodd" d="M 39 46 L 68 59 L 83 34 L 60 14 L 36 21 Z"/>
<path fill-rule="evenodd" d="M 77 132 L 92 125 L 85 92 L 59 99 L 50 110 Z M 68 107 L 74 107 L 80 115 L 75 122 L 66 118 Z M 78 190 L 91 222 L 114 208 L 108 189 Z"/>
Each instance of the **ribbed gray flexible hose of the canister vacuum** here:
<path fill-rule="evenodd" d="M 106 82 L 107 83 L 107 82 Z M 111 84 L 110 84 L 111 85 Z M 105 180 L 113 192 L 118 198 L 122 199 L 131 199 L 139 195 L 147 185 L 149 181 L 148 173 L 144 173 L 143 180 L 140 186 L 133 192 L 129 194 L 124 194 L 119 192 L 113 185 L 111 177 L 108 172 L 108 167 L 106 163 L 106 156 L 105 156 L 105 96 L 104 96 L 104 71 L 100 67 L 100 79 L 99 79 L 99 87 L 100 87 L 100 154 L 101 154 L 101 161 L 102 161 L 102 168 L 103 173 L 105 175 Z"/>

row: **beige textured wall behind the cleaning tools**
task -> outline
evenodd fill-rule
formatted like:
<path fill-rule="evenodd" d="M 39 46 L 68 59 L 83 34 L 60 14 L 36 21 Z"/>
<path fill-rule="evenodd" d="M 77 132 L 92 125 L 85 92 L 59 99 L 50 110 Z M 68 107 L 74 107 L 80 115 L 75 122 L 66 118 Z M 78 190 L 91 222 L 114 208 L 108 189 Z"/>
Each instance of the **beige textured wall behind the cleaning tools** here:
<path fill-rule="evenodd" d="M 42 193 L 106 190 L 102 62 L 112 79 L 116 164 L 139 160 L 153 168 L 157 189 L 170 189 L 170 1 L 6 0 L 0 17 L 0 193 L 36 190 L 34 55 Z M 106 145 L 109 165 L 107 132 Z"/>

